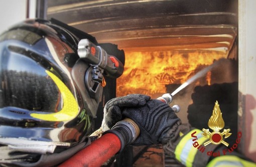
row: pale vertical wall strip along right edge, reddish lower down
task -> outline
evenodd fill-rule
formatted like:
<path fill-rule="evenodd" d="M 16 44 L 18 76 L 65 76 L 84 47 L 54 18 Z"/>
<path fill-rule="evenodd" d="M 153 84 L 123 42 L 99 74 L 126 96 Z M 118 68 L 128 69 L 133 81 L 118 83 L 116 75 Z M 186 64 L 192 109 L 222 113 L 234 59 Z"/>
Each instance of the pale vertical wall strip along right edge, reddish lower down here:
<path fill-rule="evenodd" d="M 238 2 L 238 115 L 244 134 L 240 149 L 256 162 L 256 0 Z"/>

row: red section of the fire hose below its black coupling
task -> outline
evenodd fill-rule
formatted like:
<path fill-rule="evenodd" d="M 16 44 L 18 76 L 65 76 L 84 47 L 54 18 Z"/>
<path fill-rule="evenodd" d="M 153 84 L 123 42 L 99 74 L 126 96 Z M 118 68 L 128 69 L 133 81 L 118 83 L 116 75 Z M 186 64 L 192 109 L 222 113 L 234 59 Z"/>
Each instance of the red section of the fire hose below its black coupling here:
<path fill-rule="evenodd" d="M 101 166 L 121 148 L 119 138 L 113 133 L 106 133 L 80 150 L 60 166 Z"/>

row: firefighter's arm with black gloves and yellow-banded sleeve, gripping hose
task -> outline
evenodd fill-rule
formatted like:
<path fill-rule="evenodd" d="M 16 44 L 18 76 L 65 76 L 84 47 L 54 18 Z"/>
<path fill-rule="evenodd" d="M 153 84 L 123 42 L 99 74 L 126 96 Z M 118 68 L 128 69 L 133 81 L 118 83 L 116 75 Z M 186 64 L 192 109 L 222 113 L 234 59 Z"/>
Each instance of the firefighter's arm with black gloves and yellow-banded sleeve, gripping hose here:
<path fill-rule="evenodd" d="M 133 119 L 141 129 L 141 134 L 133 144 L 162 143 L 166 153 L 173 155 L 186 166 L 215 164 L 215 160 L 207 152 L 216 151 L 219 145 L 203 146 L 208 140 L 201 135 L 203 131 L 181 123 L 168 104 L 143 94 L 113 98 L 104 107 L 103 130 L 111 129 L 116 121 L 125 117 Z M 237 155 L 236 157 L 240 158 Z"/>

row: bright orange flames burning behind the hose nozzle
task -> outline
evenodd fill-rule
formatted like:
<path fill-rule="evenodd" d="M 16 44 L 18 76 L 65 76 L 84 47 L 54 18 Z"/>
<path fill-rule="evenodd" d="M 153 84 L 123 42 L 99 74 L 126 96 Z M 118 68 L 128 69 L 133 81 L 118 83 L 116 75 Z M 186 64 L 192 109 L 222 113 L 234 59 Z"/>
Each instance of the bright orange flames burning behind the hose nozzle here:
<path fill-rule="evenodd" d="M 182 84 L 214 59 L 226 56 L 226 53 L 211 50 L 125 51 L 124 72 L 117 78 L 116 96 L 143 93 L 158 97 L 166 93 L 167 84 Z"/>

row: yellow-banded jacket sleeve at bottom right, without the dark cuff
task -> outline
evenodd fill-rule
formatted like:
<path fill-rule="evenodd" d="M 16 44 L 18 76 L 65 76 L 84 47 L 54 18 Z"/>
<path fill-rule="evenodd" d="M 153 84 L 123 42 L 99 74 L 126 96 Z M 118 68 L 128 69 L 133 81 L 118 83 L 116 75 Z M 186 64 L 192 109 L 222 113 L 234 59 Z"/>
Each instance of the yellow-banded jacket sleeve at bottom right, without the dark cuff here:
<path fill-rule="evenodd" d="M 204 143 L 208 138 L 202 136 L 203 131 L 200 129 L 193 129 L 186 134 L 181 134 L 181 140 L 175 148 L 176 159 L 185 166 L 255 166 L 256 163 L 245 160 L 239 157 L 239 153 L 221 155 L 220 151 L 216 148 L 219 144 Z M 214 153 L 215 157 L 212 156 Z M 211 158 L 213 157 L 213 158 Z M 210 160 L 211 158 L 211 160 Z"/>

